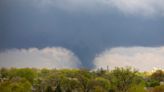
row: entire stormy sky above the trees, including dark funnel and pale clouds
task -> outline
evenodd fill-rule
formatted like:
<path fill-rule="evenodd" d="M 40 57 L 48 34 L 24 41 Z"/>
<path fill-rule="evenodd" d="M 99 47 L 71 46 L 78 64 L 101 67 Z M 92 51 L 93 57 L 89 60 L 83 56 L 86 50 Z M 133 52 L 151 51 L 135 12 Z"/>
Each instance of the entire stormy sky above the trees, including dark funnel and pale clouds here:
<path fill-rule="evenodd" d="M 0 67 L 163 68 L 163 4 L 0 0 Z"/>

